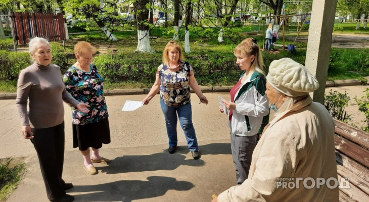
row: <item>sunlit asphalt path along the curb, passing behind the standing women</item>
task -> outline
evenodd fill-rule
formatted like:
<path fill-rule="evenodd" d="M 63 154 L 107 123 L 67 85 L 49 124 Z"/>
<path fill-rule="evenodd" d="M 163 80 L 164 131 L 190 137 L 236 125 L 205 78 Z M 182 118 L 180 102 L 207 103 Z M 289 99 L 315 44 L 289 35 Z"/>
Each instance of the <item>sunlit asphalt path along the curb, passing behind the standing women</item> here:
<path fill-rule="evenodd" d="M 193 123 L 198 141 L 229 139 L 227 117 L 218 111 L 220 95 L 230 99 L 229 93 L 204 93 L 209 104 L 199 104 L 199 98 L 192 93 Z M 164 116 L 157 94 L 149 103 L 132 112 L 122 112 L 126 100 L 141 101 L 146 94 L 106 96 L 111 143 L 103 148 L 137 147 L 167 144 Z M 21 125 L 14 99 L 0 100 L 0 159 L 36 154 L 32 143 L 21 135 Z M 72 112 L 65 109 L 65 150 L 72 151 Z M 186 142 L 178 122 L 178 142 Z"/>

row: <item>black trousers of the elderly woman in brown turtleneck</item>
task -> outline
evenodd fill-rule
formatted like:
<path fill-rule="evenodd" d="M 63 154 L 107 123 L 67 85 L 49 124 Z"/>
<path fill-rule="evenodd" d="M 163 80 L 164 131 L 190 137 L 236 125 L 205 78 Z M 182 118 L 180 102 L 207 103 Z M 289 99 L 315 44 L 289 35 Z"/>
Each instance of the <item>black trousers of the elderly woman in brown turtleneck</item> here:
<path fill-rule="evenodd" d="M 64 122 L 51 128 L 32 128 L 31 142 L 36 149 L 43 182 L 49 200 L 63 197 L 65 182 L 62 179 L 64 163 Z"/>

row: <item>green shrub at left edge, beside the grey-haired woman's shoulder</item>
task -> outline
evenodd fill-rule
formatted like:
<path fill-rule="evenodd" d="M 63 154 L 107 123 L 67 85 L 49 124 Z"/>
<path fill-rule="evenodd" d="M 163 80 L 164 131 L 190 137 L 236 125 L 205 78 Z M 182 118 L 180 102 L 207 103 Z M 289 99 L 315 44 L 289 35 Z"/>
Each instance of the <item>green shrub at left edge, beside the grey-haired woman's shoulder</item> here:
<path fill-rule="evenodd" d="M 19 72 L 32 64 L 28 53 L 0 51 L 0 79 L 13 81 Z"/>

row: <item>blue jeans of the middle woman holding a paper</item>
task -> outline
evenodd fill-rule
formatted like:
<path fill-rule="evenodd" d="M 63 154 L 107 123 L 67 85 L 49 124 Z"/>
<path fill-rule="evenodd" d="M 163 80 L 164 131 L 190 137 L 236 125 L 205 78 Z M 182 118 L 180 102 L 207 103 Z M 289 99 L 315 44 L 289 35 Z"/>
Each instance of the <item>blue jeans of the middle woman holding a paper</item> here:
<path fill-rule="evenodd" d="M 198 150 L 197 139 L 194 125 L 192 124 L 192 107 L 191 103 L 181 107 L 168 107 L 160 99 L 161 110 L 164 114 L 167 134 L 169 138 L 169 146 L 177 146 L 177 114 L 180 127 L 186 136 L 187 144 L 190 151 Z"/>

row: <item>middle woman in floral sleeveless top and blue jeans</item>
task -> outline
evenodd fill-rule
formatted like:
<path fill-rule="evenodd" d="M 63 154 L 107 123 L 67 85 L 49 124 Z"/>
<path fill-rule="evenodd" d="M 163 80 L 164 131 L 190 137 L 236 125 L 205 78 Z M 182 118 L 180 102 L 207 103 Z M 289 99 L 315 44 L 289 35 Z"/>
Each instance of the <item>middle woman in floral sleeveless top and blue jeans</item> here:
<path fill-rule="evenodd" d="M 155 83 L 142 102 L 145 105 L 149 104 L 150 100 L 160 90 L 160 106 L 164 114 L 169 138 L 169 153 L 174 153 L 178 142 L 178 115 L 192 157 L 200 159 L 195 128 L 192 124 L 190 86 L 200 98 L 200 102 L 208 104 L 208 99 L 201 92 L 191 65 L 184 61 L 179 44 L 176 41 L 169 41 L 164 48 L 163 64 L 158 67 Z"/>

